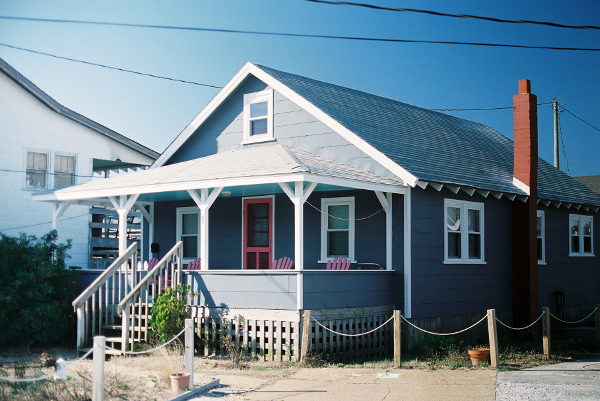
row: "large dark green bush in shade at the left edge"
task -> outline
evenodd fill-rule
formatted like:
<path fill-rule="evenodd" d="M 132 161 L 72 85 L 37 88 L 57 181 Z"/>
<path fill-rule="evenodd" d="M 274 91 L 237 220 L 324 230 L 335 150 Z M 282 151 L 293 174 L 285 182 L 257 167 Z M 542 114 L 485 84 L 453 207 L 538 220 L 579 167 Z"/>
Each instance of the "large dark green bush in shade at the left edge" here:
<path fill-rule="evenodd" d="M 77 273 L 65 265 L 56 231 L 36 238 L 0 233 L 0 346 L 48 345 L 67 339 Z"/>

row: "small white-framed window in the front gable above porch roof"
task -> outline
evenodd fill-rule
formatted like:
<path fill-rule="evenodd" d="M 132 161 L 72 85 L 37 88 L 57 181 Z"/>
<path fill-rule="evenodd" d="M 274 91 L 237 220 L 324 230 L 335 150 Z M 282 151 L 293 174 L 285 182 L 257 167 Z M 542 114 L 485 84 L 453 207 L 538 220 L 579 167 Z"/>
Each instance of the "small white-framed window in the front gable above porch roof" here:
<path fill-rule="evenodd" d="M 273 140 L 273 90 L 244 95 L 244 143 Z"/>

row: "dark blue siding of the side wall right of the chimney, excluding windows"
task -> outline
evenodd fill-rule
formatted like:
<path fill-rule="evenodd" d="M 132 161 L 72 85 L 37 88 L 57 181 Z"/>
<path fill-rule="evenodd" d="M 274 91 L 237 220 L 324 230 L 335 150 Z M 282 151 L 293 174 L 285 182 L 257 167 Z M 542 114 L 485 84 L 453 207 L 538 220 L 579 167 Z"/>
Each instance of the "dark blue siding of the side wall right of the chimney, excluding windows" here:
<path fill-rule="evenodd" d="M 564 292 L 566 307 L 600 303 L 600 219 L 584 210 L 543 207 L 546 220 L 546 265 L 538 266 L 539 306 L 556 306 L 557 292 Z M 569 256 L 569 215 L 594 217 L 593 257 Z"/>

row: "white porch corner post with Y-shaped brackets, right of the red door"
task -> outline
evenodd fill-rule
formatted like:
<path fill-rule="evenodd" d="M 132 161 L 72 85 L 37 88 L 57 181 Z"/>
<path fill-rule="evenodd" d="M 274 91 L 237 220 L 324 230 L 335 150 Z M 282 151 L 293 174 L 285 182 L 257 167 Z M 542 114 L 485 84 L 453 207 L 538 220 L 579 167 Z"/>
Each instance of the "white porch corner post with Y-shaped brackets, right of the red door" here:
<path fill-rule="evenodd" d="M 286 182 L 280 182 L 279 186 L 283 192 L 294 203 L 294 266 L 296 270 L 304 270 L 304 202 L 317 186 L 311 182 L 304 188 L 303 181 L 296 181 L 294 191 Z M 296 279 L 296 307 L 304 309 L 304 276 L 298 274 Z"/>

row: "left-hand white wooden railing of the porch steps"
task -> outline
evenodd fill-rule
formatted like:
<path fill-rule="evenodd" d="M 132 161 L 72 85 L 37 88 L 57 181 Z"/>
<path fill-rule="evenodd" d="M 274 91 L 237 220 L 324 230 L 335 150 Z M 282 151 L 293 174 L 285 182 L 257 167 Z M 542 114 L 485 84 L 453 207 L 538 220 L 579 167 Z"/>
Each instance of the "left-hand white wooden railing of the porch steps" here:
<path fill-rule="evenodd" d="M 102 334 L 102 327 L 115 324 L 116 305 L 137 285 L 137 243 L 127 248 L 73 301 L 77 312 L 77 348 Z"/>

